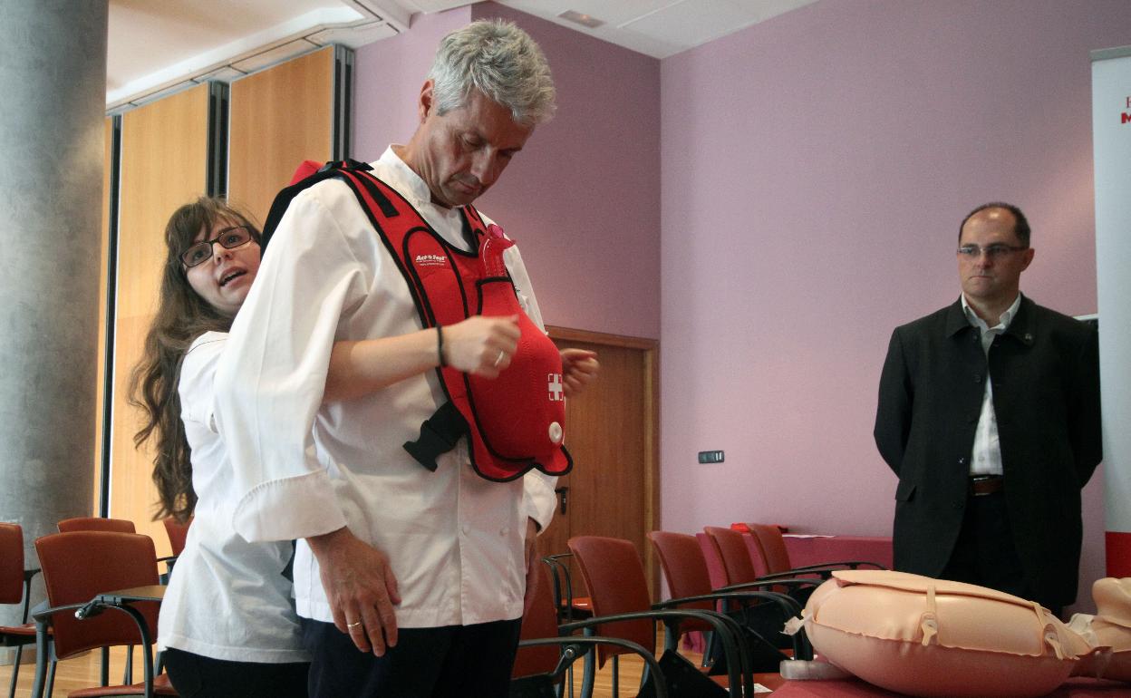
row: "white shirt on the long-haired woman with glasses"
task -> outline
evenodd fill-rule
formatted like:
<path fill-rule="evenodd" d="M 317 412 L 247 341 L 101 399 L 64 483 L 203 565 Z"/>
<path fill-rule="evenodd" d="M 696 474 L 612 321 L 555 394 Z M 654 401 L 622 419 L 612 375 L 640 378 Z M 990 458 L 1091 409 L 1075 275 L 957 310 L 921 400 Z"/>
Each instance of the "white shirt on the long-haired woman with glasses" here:
<path fill-rule="evenodd" d="M 232 528 L 242 492 L 213 420 L 216 364 L 227 335 L 206 333 L 181 365 L 181 419 L 199 500 L 157 621 L 157 647 L 232 662 L 309 662 L 283 568 L 291 544 L 248 543 Z"/>

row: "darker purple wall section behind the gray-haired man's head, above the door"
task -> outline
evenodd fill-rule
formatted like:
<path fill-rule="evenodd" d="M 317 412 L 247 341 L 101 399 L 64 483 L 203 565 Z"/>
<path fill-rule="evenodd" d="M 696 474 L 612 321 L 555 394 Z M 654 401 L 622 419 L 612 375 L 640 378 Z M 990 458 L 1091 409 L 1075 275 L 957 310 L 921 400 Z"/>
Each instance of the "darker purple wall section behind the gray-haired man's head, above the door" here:
<path fill-rule="evenodd" d="M 546 322 L 658 338 L 658 60 L 493 2 L 416 15 L 357 51 L 355 157 L 412 136 L 439 40 L 485 17 L 538 42 L 559 107 L 476 204 L 518 241 Z"/>

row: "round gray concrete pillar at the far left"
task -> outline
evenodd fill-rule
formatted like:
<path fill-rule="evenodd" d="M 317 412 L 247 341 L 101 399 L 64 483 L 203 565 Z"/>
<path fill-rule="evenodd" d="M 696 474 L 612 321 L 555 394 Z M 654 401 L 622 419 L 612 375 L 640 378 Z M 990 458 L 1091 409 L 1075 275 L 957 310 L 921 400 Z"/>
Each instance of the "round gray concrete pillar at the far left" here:
<path fill-rule="evenodd" d="M 107 11 L 0 0 L 0 520 L 28 567 L 94 501 Z"/>

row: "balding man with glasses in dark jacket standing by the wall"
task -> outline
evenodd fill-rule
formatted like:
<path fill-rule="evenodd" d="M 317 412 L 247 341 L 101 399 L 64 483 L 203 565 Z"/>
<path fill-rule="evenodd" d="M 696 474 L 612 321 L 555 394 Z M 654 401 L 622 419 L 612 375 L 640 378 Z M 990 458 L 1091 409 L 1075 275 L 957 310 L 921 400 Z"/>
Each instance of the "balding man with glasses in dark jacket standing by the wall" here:
<path fill-rule="evenodd" d="M 1096 330 L 1020 294 L 1016 206 L 959 227 L 961 296 L 891 335 L 875 443 L 899 476 L 896 569 L 1076 600 L 1080 489 L 1099 464 Z"/>

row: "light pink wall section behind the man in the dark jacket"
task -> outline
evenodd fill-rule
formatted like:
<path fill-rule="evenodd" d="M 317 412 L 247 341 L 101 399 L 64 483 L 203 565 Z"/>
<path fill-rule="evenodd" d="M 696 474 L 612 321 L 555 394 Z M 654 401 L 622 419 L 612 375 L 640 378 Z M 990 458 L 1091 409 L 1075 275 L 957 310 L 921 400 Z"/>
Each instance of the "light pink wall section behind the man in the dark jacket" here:
<path fill-rule="evenodd" d="M 890 535 L 880 369 L 957 299 L 965 213 L 1021 206 L 1022 290 L 1096 310 L 1088 52 L 1129 36 L 1122 0 L 826 0 L 662 62 L 665 528 Z"/>

